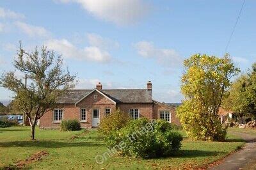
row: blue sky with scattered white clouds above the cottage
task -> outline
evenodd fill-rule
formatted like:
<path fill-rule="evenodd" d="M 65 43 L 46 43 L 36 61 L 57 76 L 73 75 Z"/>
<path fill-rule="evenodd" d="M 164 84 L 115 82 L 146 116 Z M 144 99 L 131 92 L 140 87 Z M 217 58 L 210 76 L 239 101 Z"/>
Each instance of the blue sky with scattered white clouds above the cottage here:
<path fill-rule="evenodd" d="M 180 102 L 182 61 L 223 56 L 243 0 L 1 0 L 0 72 L 15 70 L 19 41 L 47 46 L 77 73 L 77 89 L 146 88 Z M 246 0 L 227 52 L 246 72 L 256 61 L 256 1 Z M 15 72 L 20 79 L 24 77 Z M 13 93 L 0 88 L 0 100 Z"/>

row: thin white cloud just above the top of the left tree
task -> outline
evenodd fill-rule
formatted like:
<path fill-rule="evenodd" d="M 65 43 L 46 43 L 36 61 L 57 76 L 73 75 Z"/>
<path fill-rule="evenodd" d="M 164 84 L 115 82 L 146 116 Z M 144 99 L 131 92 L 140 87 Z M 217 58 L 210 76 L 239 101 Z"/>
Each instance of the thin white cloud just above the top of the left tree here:
<path fill-rule="evenodd" d="M 47 31 L 44 27 L 33 26 L 30 24 L 26 24 L 25 22 L 17 21 L 15 25 L 26 35 L 30 37 L 49 37 L 51 33 Z"/>

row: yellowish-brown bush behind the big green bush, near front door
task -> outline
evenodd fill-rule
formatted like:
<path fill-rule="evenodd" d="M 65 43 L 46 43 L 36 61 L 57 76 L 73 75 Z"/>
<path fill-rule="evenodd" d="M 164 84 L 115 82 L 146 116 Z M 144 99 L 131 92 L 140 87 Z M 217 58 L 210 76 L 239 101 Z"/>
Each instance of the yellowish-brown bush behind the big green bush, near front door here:
<path fill-rule="evenodd" d="M 113 130 L 119 130 L 124 127 L 129 120 L 131 120 L 131 118 L 128 113 L 117 109 L 100 120 L 99 132 L 100 134 L 108 135 Z"/>

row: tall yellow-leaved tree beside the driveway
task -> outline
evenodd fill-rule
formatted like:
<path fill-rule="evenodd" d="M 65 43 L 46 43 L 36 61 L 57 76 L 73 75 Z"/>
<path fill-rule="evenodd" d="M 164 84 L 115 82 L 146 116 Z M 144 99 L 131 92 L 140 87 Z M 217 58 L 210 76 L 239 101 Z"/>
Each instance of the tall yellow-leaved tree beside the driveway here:
<path fill-rule="evenodd" d="M 193 139 L 222 141 L 227 129 L 218 119 L 230 78 L 239 73 L 228 55 L 223 58 L 195 54 L 184 61 L 181 91 L 184 101 L 177 109 L 182 127 Z"/>

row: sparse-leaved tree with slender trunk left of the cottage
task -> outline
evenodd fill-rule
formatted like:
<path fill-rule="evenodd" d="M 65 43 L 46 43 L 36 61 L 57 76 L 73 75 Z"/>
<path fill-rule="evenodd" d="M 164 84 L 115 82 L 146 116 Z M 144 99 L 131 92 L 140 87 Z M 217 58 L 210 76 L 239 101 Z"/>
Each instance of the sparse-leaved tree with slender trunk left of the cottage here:
<path fill-rule="evenodd" d="M 26 52 L 20 43 L 13 66 L 27 75 L 29 84 L 15 77 L 14 72 L 3 73 L 0 78 L 0 86 L 15 93 L 15 105 L 28 116 L 31 139 L 35 139 L 36 122 L 54 107 L 58 96 L 74 86 L 76 75 L 63 70 L 62 63 L 61 56 L 47 47 Z"/>

